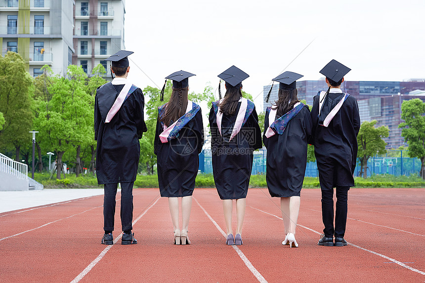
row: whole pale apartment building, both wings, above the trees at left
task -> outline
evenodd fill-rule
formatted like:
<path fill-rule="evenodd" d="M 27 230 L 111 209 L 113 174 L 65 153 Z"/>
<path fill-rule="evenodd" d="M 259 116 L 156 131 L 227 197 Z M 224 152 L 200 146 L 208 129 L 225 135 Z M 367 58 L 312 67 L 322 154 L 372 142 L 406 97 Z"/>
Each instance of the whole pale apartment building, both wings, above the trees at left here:
<path fill-rule="evenodd" d="M 1 55 L 19 53 L 34 77 L 48 65 L 87 74 L 124 49 L 125 0 L 0 0 Z"/>

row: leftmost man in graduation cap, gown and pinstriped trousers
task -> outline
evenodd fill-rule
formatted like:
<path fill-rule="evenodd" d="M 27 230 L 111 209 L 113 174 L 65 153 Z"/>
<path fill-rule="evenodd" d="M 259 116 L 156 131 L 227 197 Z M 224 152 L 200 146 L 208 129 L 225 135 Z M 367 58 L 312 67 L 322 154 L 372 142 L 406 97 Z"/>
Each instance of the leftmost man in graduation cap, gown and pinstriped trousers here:
<path fill-rule="evenodd" d="M 105 231 L 101 243 L 112 244 L 115 196 L 121 183 L 122 244 L 135 244 L 132 230 L 133 184 L 140 156 L 139 140 L 146 132 L 143 120 L 142 90 L 127 81 L 130 70 L 127 56 L 131 51 L 120 50 L 107 58 L 112 61 L 112 82 L 97 88 L 94 106 L 94 139 L 96 148 L 97 182 L 104 184 L 103 218 Z"/>

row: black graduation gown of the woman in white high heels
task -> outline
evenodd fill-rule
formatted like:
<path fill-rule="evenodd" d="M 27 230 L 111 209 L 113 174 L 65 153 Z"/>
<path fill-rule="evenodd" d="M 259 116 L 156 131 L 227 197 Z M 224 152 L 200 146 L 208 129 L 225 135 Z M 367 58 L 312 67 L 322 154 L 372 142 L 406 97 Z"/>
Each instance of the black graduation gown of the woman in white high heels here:
<path fill-rule="evenodd" d="M 279 117 L 276 116 L 275 120 Z M 264 118 L 264 134 L 269 127 L 269 115 Z M 292 118 L 283 134 L 270 138 L 263 135 L 267 148 L 266 181 L 272 197 L 300 196 L 307 166 L 307 141 L 311 138 L 311 115 L 305 105 Z"/>

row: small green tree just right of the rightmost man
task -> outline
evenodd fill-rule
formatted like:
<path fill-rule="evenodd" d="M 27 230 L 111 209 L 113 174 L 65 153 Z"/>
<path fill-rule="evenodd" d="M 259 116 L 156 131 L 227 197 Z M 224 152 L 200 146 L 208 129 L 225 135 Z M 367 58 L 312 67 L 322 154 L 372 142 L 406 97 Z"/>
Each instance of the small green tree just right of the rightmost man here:
<path fill-rule="evenodd" d="M 383 138 L 386 138 L 389 135 L 388 126 L 380 126 L 376 128 L 376 123 L 376 120 L 364 121 L 361 124 L 359 134 L 357 135 L 357 158 L 361 162 L 360 172 L 365 179 L 367 177 L 367 165 L 369 158 L 376 154 L 384 154 L 386 152 L 386 142 Z"/>

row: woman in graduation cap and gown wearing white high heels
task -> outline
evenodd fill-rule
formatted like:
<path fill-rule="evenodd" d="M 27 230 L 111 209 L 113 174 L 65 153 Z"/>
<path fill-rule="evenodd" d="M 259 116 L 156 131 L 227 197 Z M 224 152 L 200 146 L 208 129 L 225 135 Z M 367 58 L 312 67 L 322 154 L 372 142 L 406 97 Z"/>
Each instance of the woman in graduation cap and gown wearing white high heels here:
<path fill-rule="evenodd" d="M 307 141 L 311 138 L 311 116 L 307 105 L 299 102 L 297 82 L 303 77 L 285 72 L 273 81 L 279 82 L 278 100 L 267 107 L 264 117 L 263 142 L 267 148 L 267 188 L 272 197 L 280 198 L 285 227 L 282 244 L 295 240 L 300 192 L 307 165 Z M 270 91 L 266 97 L 268 102 Z"/>

